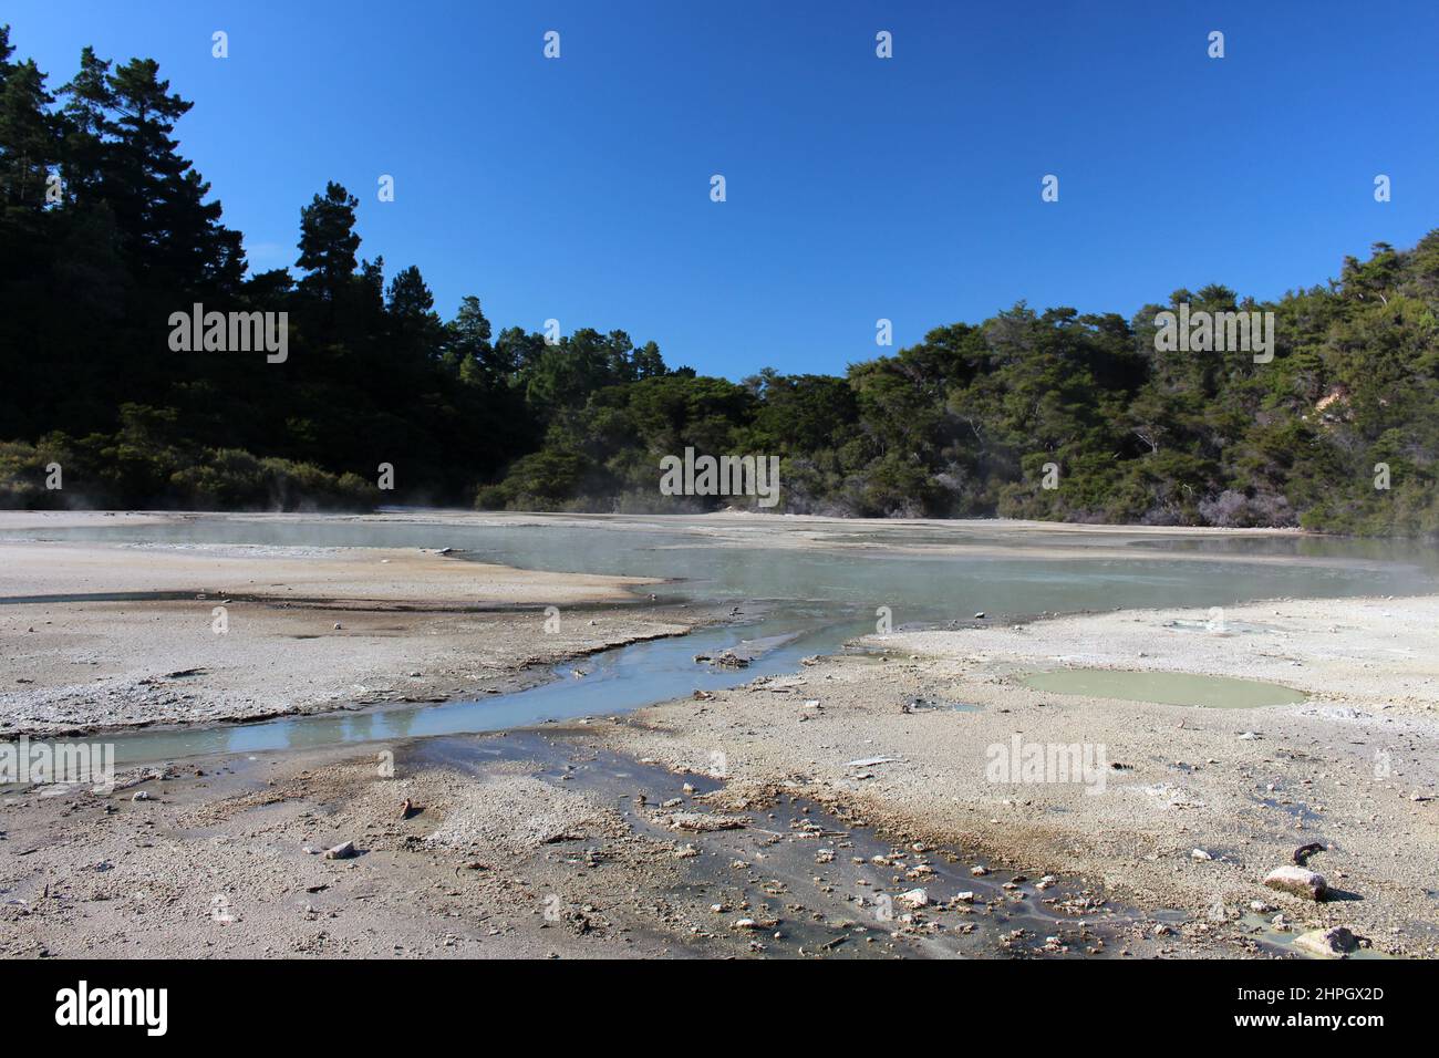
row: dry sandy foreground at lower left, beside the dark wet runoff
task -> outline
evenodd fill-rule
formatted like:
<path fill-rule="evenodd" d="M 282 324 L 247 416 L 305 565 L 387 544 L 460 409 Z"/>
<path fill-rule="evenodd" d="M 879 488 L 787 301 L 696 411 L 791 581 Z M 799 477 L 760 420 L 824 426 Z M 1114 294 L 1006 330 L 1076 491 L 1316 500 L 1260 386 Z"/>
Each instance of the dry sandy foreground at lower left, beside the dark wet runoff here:
<path fill-rule="evenodd" d="M 577 956 L 602 947 L 581 908 L 613 875 L 665 865 L 643 842 L 619 841 L 596 802 L 512 764 L 482 783 L 445 769 L 412 776 L 404 757 L 386 777 L 354 747 L 206 766 L 111 797 L 6 799 L 4 954 Z M 587 862 L 583 846 L 548 856 L 566 835 L 603 844 L 622 867 L 567 862 Z M 324 856 L 342 841 L 354 856 Z M 561 878 L 564 905 L 551 898 Z M 604 936 L 609 956 L 663 954 L 672 940 Z"/>

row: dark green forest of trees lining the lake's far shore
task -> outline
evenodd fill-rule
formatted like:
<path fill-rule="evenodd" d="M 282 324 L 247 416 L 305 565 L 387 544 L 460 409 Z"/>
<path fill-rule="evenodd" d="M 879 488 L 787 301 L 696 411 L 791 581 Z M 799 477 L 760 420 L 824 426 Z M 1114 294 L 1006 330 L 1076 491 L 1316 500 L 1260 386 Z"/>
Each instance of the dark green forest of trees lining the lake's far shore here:
<path fill-rule="evenodd" d="M 778 456 L 780 512 L 1439 535 L 1439 230 L 1274 302 L 1020 302 L 735 383 L 625 331 L 496 334 L 478 297 L 443 320 L 417 266 L 360 256 L 338 183 L 296 203 L 294 271 L 248 269 L 174 138 L 190 108 L 88 48 L 52 85 L 0 29 L 0 507 L 755 507 L 662 495 L 694 448 Z M 286 354 L 177 353 L 193 305 L 283 314 Z M 1272 360 L 1157 351 L 1180 305 L 1272 312 Z"/>

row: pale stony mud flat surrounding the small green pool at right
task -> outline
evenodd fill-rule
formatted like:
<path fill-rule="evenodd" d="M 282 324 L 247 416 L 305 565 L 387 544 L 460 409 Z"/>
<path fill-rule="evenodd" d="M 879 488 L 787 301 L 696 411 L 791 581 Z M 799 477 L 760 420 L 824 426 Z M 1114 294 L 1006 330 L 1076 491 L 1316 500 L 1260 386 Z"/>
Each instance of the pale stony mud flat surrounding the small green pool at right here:
<path fill-rule="evenodd" d="M 1082 877 L 1156 914 L 1173 951 L 1255 953 L 1348 926 L 1371 951 L 1439 953 L 1439 599 L 1289 600 L 1118 612 L 1002 629 L 875 636 L 814 662 L 609 731 L 694 770 L 722 761 L 744 803 L 790 789 L 865 813 L 896 839 L 947 841 L 1022 869 Z M 1308 701 L 1197 708 L 1053 694 L 1062 666 L 1212 674 Z M 1099 782 L 996 772 L 1009 747 L 1102 753 Z M 1097 754 L 1098 756 L 1098 754 Z M 1297 848 L 1333 890 L 1263 887 Z"/>

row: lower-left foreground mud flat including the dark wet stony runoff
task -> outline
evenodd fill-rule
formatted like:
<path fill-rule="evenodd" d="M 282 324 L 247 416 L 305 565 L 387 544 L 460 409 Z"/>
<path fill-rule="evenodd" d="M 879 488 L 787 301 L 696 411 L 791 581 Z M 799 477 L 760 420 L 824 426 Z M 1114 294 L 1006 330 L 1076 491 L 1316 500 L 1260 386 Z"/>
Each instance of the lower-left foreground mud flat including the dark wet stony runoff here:
<path fill-rule="evenodd" d="M 596 721 L 594 728 L 607 727 Z M 596 746 L 453 736 L 3 799 L 0 957 L 1079 957 L 1158 950 L 1072 881 Z M 347 845 L 347 855 L 327 849 Z"/>

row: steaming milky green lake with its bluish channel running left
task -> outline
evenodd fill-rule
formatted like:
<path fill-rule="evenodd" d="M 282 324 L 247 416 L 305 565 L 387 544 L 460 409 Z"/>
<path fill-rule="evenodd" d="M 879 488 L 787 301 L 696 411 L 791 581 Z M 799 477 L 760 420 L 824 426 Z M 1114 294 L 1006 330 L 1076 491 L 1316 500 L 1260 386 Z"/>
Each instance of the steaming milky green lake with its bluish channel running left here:
<path fill-rule="evenodd" d="M 184 523 L 124 524 L 83 530 L 13 534 L 23 538 L 94 540 L 135 544 L 249 544 L 283 547 L 417 547 L 460 551 L 459 560 L 519 569 L 665 577 L 645 589 L 662 600 L 766 603 L 766 616 L 734 628 L 705 629 L 673 641 L 636 643 L 587 658 L 583 679 L 571 665 L 558 679 L 508 695 L 443 705 L 407 705 L 230 724 L 181 731 L 115 736 L 121 763 L 206 753 L 233 753 L 338 741 L 377 741 L 420 734 L 455 734 L 522 727 L 544 720 L 606 715 L 656 701 L 748 682 L 757 675 L 794 672 L 799 659 L 842 648 L 876 630 L 885 616 L 894 629 L 968 622 L 976 612 L 1003 622 L 1039 613 L 1120 607 L 1212 607 L 1266 597 L 1338 597 L 1433 592 L 1432 548 L 1307 537 L 1151 537 L 1112 533 L 1006 530 L 1000 525 L 948 528 L 843 524 L 816 530 L 783 517 L 754 523 L 633 520 L 616 523 L 570 518 L 518 524 L 460 524 L 453 520 L 361 520 L 353 517 L 237 518 L 196 517 Z M 758 527 L 760 531 L 750 528 Z M 787 546 L 789 534 L 817 537 L 817 548 Z M 951 553 L 896 548 L 948 546 Z M 222 584 L 197 584 L 214 590 Z M 476 589 L 478 590 L 478 589 Z M 0 599 L 0 605 L 4 599 Z M 476 597 L 476 605 L 484 600 Z M 197 602 L 209 622 L 210 602 Z M 543 607 L 532 615 L 543 619 Z M 524 615 L 517 619 L 530 619 Z M 754 666 L 715 672 L 692 655 L 750 641 L 780 643 Z M 1131 674 L 1131 677 L 1138 674 Z M 1081 677 L 1052 674 L 1063 692 Z M 1130 677 L 1101 677 L 1128 679 Z M 1196 677 L 1176 684 L 1148 677 L 1143 687 L 1112 687 L 1107 697 L 1138 694 L 1145 701 L 1177 698 L 1190 704 L 1255 701 L 1272 704 L 1278 692 L 1255 687 L 1217 687 Z M 1197 682 L 1196 682 L 1197 681 Z M 1232 681 L 1245 682 L 1245 681 Z M 1288 694 L 1288 688 L 1279 688 Z M 1089 692 L 1089 691 L 1072 691 Z M 1164 697 L 1156 698 L 1154 695 Z"/>

